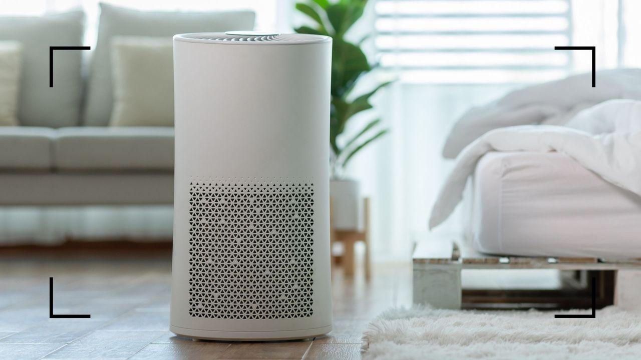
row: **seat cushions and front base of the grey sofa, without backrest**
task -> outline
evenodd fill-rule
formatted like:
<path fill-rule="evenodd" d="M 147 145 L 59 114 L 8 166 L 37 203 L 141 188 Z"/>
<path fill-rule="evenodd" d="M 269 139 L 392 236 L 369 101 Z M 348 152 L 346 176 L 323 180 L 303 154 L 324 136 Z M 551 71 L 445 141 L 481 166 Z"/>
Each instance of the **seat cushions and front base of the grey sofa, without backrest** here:
<path fill-rule="evenodd" d="M 2 205 L 172 204 L 174 129 L 0 127 Z"/>

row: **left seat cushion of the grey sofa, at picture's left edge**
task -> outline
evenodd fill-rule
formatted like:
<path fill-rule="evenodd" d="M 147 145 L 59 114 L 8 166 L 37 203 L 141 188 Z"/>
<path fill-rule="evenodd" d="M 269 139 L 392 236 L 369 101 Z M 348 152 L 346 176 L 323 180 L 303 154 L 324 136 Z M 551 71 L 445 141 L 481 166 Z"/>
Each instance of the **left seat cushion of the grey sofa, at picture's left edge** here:
<path fill-rule="evenodd" d="M 0 127 L 0 172 L 49 170 L 54 134 L 49 127 Z"/>

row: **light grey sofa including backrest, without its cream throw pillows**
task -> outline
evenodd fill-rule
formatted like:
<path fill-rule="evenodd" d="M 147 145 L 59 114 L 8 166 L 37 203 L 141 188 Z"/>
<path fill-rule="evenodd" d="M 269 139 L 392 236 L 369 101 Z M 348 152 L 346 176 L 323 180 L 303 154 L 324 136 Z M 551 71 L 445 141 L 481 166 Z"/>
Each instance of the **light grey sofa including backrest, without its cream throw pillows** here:
<path fill-rule="evenodd" d="M 83 23 L 79 12 L 0 18 L 0 40 L 22 44 L 18 126 L 0 126 L 0 206 L 172 204 L 173 127 L 110 126 L 111 40 L 251 29 L 254 14 L 101 4 L 97 44 L 56 51 L 49 88 L 48 46 L 83 45 Z"/>

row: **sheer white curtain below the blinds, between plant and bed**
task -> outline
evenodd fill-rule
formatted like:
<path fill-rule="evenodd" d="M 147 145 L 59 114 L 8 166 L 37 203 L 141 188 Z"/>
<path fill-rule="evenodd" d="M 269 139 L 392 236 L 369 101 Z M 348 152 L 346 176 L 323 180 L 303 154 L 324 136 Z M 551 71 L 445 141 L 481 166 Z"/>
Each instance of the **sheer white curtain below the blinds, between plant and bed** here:
<path fill-rule="evenodd" d="M 431 204 L 451 167 L 440 151 L 453 121 L 514 86 L 396 83 L 376 95 L 390 133 L 354 158 L 347 174 L 372 199 L 376 261 L 408 259 L 412 244 L 427 235 Z M 440 231 L 458 232 L 459 221 L 451 217 Z"/>

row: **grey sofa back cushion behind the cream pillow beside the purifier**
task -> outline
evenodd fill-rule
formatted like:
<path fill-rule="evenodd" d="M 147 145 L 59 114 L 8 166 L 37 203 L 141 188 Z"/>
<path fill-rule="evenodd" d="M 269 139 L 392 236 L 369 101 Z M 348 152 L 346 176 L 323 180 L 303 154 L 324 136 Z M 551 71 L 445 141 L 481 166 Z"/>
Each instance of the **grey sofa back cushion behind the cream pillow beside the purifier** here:
<path fill-rule="evenodd" d="M 111 41 L 116 36 L 167 37 L 179 33 L 252 29 L 254 13 L 142 12 L 100 4 L 96 51 L 88 82 L 85 124 L 106 126 L 113 108 Z"/>

